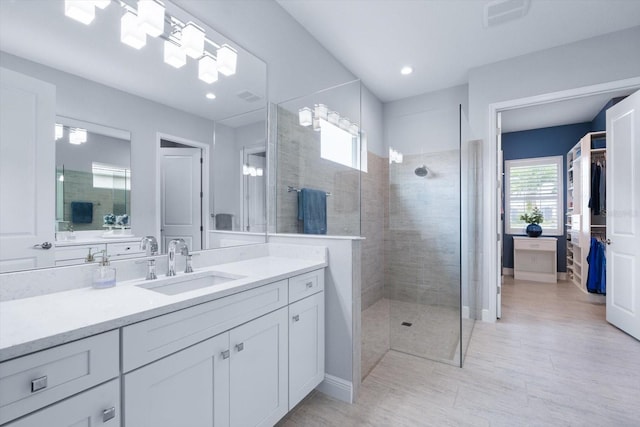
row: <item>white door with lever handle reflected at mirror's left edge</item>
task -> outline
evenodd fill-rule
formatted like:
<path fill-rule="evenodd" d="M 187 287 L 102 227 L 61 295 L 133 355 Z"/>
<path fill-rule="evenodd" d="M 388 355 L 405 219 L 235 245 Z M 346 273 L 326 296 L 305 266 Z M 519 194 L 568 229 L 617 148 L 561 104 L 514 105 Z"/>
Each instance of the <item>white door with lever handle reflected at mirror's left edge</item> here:
<path fill-rule="evenodd" d="M 51 267 L 56 88 L 4 68 L 0 86 L 0 272 Z"/>

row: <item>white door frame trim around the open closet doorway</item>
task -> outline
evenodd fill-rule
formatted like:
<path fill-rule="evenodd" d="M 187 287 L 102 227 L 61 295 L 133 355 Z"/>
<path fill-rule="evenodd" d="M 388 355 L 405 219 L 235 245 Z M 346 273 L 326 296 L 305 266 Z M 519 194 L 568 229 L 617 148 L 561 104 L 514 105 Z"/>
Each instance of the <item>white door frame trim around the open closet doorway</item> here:
<path fill-rule="evenodd" d="M 492 278 L 487 283 L 496 283 L 496 286 L 490 286 L 489 289 L 489 318 L 500 318 L 500 305 L 501 305 L 501 285 L 503 282 L 503 270 L 502 270 L 502 245 L 504 242 L 504 234 L 502 228 L 502 188 L 503 172 L 502 172 L 502 152 L 501 152 L 501 129 L 505 127 L 507 123 L 504 122 L 504 116 L 502 113 L 513 112 L 517 110 L 530 109 L 532 107 L 548 107 L 554 108 L 562 103 L 574 102 L 575 105 L 579 105 L 582 102 L 587 102 L 589 97 L 606 95 L 609 99 L 616 96 L 628 95 L 640 88 L 640 78 L 627 79 L 622 81 L 610 82 L 601 85 L 594 85 L 589 87 L 583 87 L 578 89 L 571 89 L 562 92 L 549 93 L 545 95 L 539 95 L 530 98 L 515 99 L 511 101 L 505 101 L 501 103 L 490 105 L 490 119 L 492 126 L 490 126 L 490 138 L 495 141 L 491 150 L 494 153 L 493 158 L 496 161 L 495 165 L 495 177 L 499 183 L 497 190 L 496 211 L 494 211 L 494 218 L 497 220 L 489 221 L 491 230 L 489 235 L 497 235 L 497 244 L 488 242 L 491 246 L 488 252 L 491 254 L 493 262 L 489 266 L 488 277 Z M 603 104 L 604 105 L 604 104 Z M 502 123 L 501 123 L 502 121 Z M 542 126 L 541 126 L 542 127 Z M 577 141 L 576 141 L 577 142 Z M 559 236 L 562 238 L 563 236 Z"/>

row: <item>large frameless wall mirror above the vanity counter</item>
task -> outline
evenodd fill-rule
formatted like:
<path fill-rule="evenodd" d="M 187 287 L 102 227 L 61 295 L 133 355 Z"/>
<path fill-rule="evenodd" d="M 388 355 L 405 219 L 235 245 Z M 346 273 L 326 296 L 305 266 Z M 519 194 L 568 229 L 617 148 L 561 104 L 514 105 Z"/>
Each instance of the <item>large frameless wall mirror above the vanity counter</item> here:
<path fill-rule="evenodd" d="M 30 143 L 34 144 L 33 152 L 36 152 L 37 135 L 42 137 L 46 132 L 39 134 L 34 132 L 33 135 L 29 134 L 31 136 L 23 136 L 17 127 L 12 130 L 2 129 L 5 141 L 1 147 L 3 169 L 8 170 L 4 167 L 5 162 L 7 164 L 13 162 L 22 165 L 24 170 L 32 168 L 40 171 L 38 175 L 48 175 L 46 180 L 35 180 L 29 188 L 34 194 L 38 190 L 40 194 L 46 192 L 51 193 L 52 196 L 50 201 L 44 198 L 37 203 L 25 203 L 20 200 L 20 197 L 25 197 L 24 195 L 16 194 L 16 191 L 5 191 L 4 187 L 0 189 L 1 197 L 17 197 L 16 200 L 8 203 L 13 213 L 7 216 L 3 210 L 3 218 L 11 216 L 19 219 L 21 216 L 24 218 L 28 216 L 34 220 L 30 219 L 31 222 L 25 220 L 24 224 L 13 220 L 0 224 L 0 271 L 62 265 L 57 263 L 55 255 L 34 254 L 38 251 L 33 247 L 43 242 L 54 242 L 53 250 L 49 252 L 56 253 L 57 246 L 60 246 L 56 244 L 69 237 L 67 225 L 69 222 L 73 223 L 71 218 L 73 202 L 91 203 L 93 209 L 91 222 L 82 222 L 88 221 L 88 216 L 81 218 L 80 212 L 76 212 L 78 214 L 76 219 L 80 222 L 72 224 L 74 234 L 77 235 L 76 242 L 73 244 L 83 243 L 83 239 L 78 237 L 90 230 L 108 231 L 108 228 L 103 227 L 107 225 L 104 224 L 104 215 L 108 213 L 114 214 L 116 218 L 122 215 L 129 216 L 131 221 L 128 226 L 131 228 L 125 234 L 135 238 L 153 235 L 160 240 L 164 224 L 163 212 L 161 212 L 163 206 L 161 140 L 163 139 L 177 143 L 188 141 L 189 143 L 186 143 L 188 146 L 191 141 L 194 141 L 199 144 L 198 146 L 207 157 L 203 162 L 203 167 L 207 170 L 202 172 L 203 182 L 200 190 L 205 194 L 201 208 L 197 209 L 192 216 L 192 219 L 199 218 L 202 227 L 199 236 L 201 248 L 266 241 L 266 232 L 264 227 L 261 228 L 259 221 L 253 221 L 247 226 L 247 223 L 241 220 L 248 215 L 249 211 L 256 217 L 266 210 L 264 197 L 266 188 L 258 189 L 260 185 L 264 187 L 266 184 L 264 179 L 243 183 L 241 166 L 243 161 L 248 162 L 248 160 L 242 160 L 240 154 L 240 147 L 245 146 L 247 148 L 251 146 L 255 153 L 261 152 L 260 144 L 263 147 L 262 152 L 266 150 L 266 64 L 175 4 L 164 3 L 166 10 L 162 33 L 158 37 L 147 35 L 146 45 L 135 49 L 121 42 L 122 18 L 127 11 L 135 11 L 137 2 L 134 0 L 111 1 L 104 9 L 94 8 L 95 16 L 88 25 L 65 16 L 65 2 L 62 0 L 0 2 L 0 67 L 16 73 L 18 79 L 22 77 L 35 79 L 34 82 L 51 88 L 49 92 L 51 92 L 54 108 L 53 114 L 47 118 L 50 121 L 50 125 L 47 126 L 52 129 L 50 143 L 53 142 L 56 116 L 95 124 L 103 130 L 123 130 L 129 138 L 121 139 L 130 141 L 128 172 L 124 167 L 118 171 L 114 168 L 105 168 L 105 165 L 117 165 L 108 158 L 104 161 L 92 161 L 92 164 L 96 163 L 96 167 L 102 164 L 103 169 L 107 169 L 103 174 L 111 174 L 116 187 L 111 189 L 114 200 L 111 205 L 107 204 L 110 206 L 108 209 L 102 200 L 98 201 L 98 197 L 78 195 L 75 198 L 72 196 L 65 198 L 64 192 L 71 186 L 68 181 L 71 171 L 76 169 L 70 167 L 71 160 L 65 160 L 62 157 L 62 151 L 60 159 L 56 159 L 60 142 L 55 144 L 55 155 L 48 154 L 46 159 L 35 157 L 26 159 L 25 156 L 14 158 L 12 156 L 16 155 L 16 150 L 13 141 L 16 136 L 33 137 Z M 186 28 L 189 23 L 205 31 L 206 39 L 203 49 L 211 55 L 203 54 L 196 59 L 187 56 L 186 63 L 180 68 L 175 68 L 165 62 L 165 45 L 179 43 L 177 37 L 181 31 L 177 30 Z M 228 53 L 228 50 L 223 52 L 219 49 L 225 45 L 237 54 L 235 73 L 222 66 L 226 54 L 224 52 Z M 213 74 L 211 72 L 207 74 L 200 69 L 200 59 L 203 57 L 207 57 L 208 60 L 211 59 L 210 57 L 216 57 L 221 64 L 217 81 L 212 83 L 204 81 L 211 81 Z M 3 94 L 5 89 L 11 90 L 7 86 L 8 81 L 3 78 Z M 5 96 L 2 98 L 8 99 Z M 9 118 L 9 113 L 10 110 L 3 104 L 3 119 Z M 2 120 L 2 122 L 8 121 Z M 74 123 L 67 126 L 78 127 L 78 123 Z M 231 129 L 231 133 L 237 135 L 233 140 L 227 139 L 229 147 L 223 146 L 225 138 L 214 135 L 223 127 Z M 100 132 L 96 133 L 100 134 Z M 240 145 L 236 143 L 236 139 L 242 139 L 244 138 L 242 135 L 249 134 L 250 140 L 247 139 L 247 141 L 250 143 L 243 142 Z M 4 138 L 4 135 L 11 135 L 11 137 Z M 111 141 L 109 144 L 117 143 Z M 88 150 L 89 145 L 86 147 Z M 250 159 L 252 164 L 256 162 L 254 158 L 256 155 L 253 154 Z M 31 164 L 26 165 L 25 161 Z M 44 162 L 42 164 L 45 166 L 41 167 L 39 162 Z M 60 169 L 63 165 L 65 184 L 60 184 L 59 179 L 63 175 Z M 232 175 L 219 172 L 220 169 L 224 170 L 231 165 L 234 168 Z M 89 172 L 86 164 L 84 172 Z M 0 173 L 4 177 L 5 172 Z M 9 174 L 9 172 L 6 173 Z M 91 171 L 92 176 L 96 173 Z M 124 176 L 116 177 L 118 174 Z M 95 178 L 92 179 L 95 180 Z M 38 186 L 42 185 L 44 187 L 38 189 Z M 225 193 L 216 194 L 216 191 L 222 191 L 221 189 Z M 231 189 L 235 193 L 231 193 Z M 56 195 L 56 190 L 59 190 L 59 197 Z M 120 199 L 116 200 L 117 197 Z M 56 204 L 56 198 L 60 199 L 58 204 Z M 5 201 L 3 198 L 3 202 Z M 98 203 L 100 203 L 99 206 Z M 85 212 L 89 210 L 86 204 L 76 206 L 78 210 L 82 208 Z M 113 212 L 107 212 L 108 210 Z M 226 239 L 221 244 L 219 239 L 212 238 L 214 234 L 212 232 L 216 231 L 216 215 L 225 213 L 232 216 L 231 230 L 220 231 L 230 231 L 234 235 L 233 238 Z M 223 221 L 223 216 L 219 218 Z M 183 221 L 183 218 L 174 219 L 176 224 L 173 225 L 182 225 L 180 221 Z M 35 224 L 35 220 L 43 225 L 38 227 L 30 225 Z M 0 219 L 0 221 L 4 220 Z M 236 224 L 235 228 L 233 224 Z M 34 229 L 27 230 L 29 227 Z M 243 233 L 249 237 L 245 238 Z M 26 238 L 19 240 L 15 237 L 18 234 L 29 235 L 30 240 Z M 171 237 L 180 236 L 167 236 L 167 238 Z M 70 244 L 68 240 L 64 243 Z M 16 247 L 21 250 L 14 250 Z M 40 252 L 45 251 L 40 250 Z"/>

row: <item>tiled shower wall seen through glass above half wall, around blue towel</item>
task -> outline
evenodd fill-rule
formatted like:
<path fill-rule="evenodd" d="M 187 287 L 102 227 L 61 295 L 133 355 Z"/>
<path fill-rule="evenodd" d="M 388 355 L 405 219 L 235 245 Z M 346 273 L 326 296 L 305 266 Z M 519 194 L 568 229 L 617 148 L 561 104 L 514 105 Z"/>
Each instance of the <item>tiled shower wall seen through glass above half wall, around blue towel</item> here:
<path fill-rule="evenodd" d="M 298 115 L 278 108 L 276 228 L 300 233 L 296 193 L 287 186 L 331 193 L 327 199 L 327 234 L 360 235 L 360 172 L 320 157 L 320 134 L 298 124 Z"/>

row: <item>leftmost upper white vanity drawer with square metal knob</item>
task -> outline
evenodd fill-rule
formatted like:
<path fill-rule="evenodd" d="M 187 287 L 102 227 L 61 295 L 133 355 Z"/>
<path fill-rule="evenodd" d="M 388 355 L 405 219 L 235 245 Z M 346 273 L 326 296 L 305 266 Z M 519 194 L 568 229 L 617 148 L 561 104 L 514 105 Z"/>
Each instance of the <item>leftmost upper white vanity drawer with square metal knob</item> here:
<path fill-rule="evenodd" d="M 0 424 L 115 378 L 118 331 L 0 364 Z"/>

